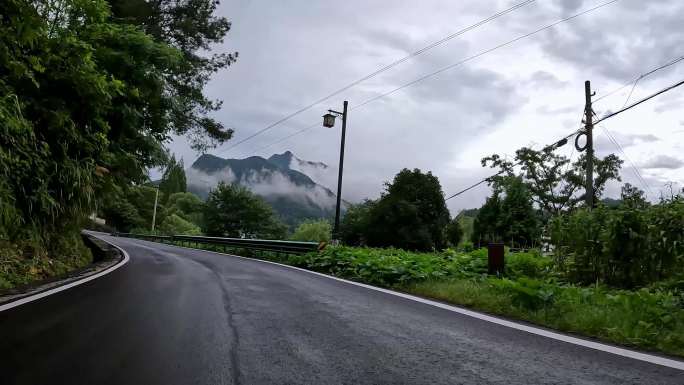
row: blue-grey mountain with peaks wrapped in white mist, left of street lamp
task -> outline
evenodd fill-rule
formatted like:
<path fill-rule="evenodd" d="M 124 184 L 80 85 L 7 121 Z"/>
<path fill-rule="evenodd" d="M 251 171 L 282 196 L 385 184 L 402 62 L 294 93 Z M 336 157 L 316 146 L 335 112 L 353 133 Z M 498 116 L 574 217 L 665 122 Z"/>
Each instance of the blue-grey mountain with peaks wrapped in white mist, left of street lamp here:
<path fill-rule="evenodd" d="M 264 198 L 286 223 L 295 225 L 305 219 L 335 215 L 335 194 L 317 183 L 331 179 L 326 176 L 330 171 L 324 163 L 302 160 L 287 151 L 268 159 L 224 159 L 205 154 L 185 173 L 188 191 L 203 199 L 221 181 L 237 183 Z"/>

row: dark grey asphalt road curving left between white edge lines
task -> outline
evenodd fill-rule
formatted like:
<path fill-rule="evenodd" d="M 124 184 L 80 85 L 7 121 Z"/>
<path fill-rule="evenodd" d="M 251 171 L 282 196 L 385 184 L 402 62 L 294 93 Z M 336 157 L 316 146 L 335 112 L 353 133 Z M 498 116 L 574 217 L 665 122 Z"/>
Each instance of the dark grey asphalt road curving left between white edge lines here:
<path fill-rule="evenodd" d="M 0 312 L 2 384 L 684 384 L 684 372 L 254 260 L 130 261 Z"/>

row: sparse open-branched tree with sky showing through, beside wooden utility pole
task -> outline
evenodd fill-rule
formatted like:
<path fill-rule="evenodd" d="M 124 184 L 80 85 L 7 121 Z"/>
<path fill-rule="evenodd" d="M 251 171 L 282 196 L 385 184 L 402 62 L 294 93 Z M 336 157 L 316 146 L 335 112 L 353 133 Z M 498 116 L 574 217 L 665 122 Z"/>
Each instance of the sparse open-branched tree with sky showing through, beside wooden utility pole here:
<path fill-rule="evenodd" d="M 520 176 L 531 193 L 532 199 L 547 214 L 558 214 L 563 210 L 576 207 L 585 200 L 586 154 L 582 154 L 573 164 L 562 155 L 554 153 L 556 147 L 549 146 L 536 151 L 523 147 L 516 151 L 515 160 L 510 161 L 499 155 L 482 158 L 482 166 L 498 168 L 499 175 L 491 178 L 490 185 L 496 186 L 503 178 Z M 594 158 L 594 201 L 598 202 L 606 182 L 620 180 L 622 165 L 614 154 L 605 158 Z M 519 165 L 520 171 L 516 171 Z"/>

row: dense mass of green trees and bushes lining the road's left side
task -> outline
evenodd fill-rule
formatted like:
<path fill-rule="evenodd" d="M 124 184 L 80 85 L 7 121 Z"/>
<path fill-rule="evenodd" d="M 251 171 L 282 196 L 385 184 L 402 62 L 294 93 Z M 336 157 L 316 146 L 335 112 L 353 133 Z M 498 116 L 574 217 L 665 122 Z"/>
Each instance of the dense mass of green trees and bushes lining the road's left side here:
<path fill-rule="evenodd" d="M 147 227 L 148 170 L 169 162 L 172 134 L 198 150 L 232 137 L 203 93 L 237 58 L 206 54 L 230 29 L 217 4 L 0 1 L 0 288 L 89 263 L 79 232 L 93 213 Z"/>

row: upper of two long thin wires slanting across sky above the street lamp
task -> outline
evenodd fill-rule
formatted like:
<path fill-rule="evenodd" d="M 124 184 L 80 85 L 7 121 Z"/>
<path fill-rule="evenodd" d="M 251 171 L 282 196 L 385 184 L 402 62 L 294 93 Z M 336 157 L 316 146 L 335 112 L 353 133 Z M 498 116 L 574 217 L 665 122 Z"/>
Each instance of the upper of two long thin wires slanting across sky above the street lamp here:
<path fill-rule="evenodd" d="M 481 26 L 483 26 L 483 25 L 485 25 L 485 24 L 487 24 L 487 23 L 489 23 L 489 22 L 491 22 L 491 21 L 493 21 L 493 20 L 495 20 L 495 19 L 498 19 L 498 18 L 501 17 L 501 16 L 504 16 L 504 15 L 506 15 L 506 14 L 508 14 L 508 13 L 511 13 L 511 12 L 513 12 L 513 11 L 519 9 L 519 8 L 522 8 L 522 7 L 524 7 L 524 6 L 528 5 L 528 4 L 531 4 L 531 3 L 535 2 L 535 1 L 536 1 L 536 0 L 526 0 L 526 1 L 523 1 L 523 2 L 521 2 L 521 3 L 518 3 L 518 4 L 516 4 L 516 5 L 514 5 L 514 6 L 510 7 L 510 8 L 507 8 L 507 9 L 505 9 L 505 10 L 503 10 L 503 11 L 500 11 L 500 12 L 498 12 L 498 13 L 495 13 L 495 14 L 492 15 L 492 16 L 489 16 L 489 17 L 487 17 L 487 18 L 485 18 L 485 19 L 483 19 L 483 20 L 480 20 L 480 21 L 478 21 L 478 22 L 475 23 L 475 24 L 472 24 L 472 25 L 470 25 L 470 26 L 468 26 L 468 27 L 466 27 L 466 28 L 463 28 L 463 29 L 461 29 L 461 30 L 455 32 L 455 33 L 452 33 L 451 35 L 448 35 L 448 36 L 446 36 L 446 37 L 444 37 L 444 38 L 442 38 L 442 39 L 440 39 L 440 40 L 437 40 L 437 41 L 435 41 L 435 42 L 433 42 L 433 43 L 431 43 L 431 44 L 429 44 L 429 45 L 427 45 L 427 46 L 425 46 L 425 47 L 419 49 L 418 51 L 412 52 L 412 53 L 410 53 L 410 54 L 408 54 L 408 55 L 402 57 L 401 59 L 395 60 L 395 61 L 393 61 L 392 63 L 387 64 L 386 66 L 381 67 L 381 68 L 379 68 L 378 70 L 376 70 L 376 71 L 374 71 L 374 72 L 371 72 L 370 74 L 368 74 L 368 75 L 366 75 L 366 76 L 364 76 L 364 77 L 362 77 L 362 78 L 360 78 L 360 79 L 358 79 L 358 80 L 356 80 L 356 81 L 354 81 L 354 82 L 352 82 L 352 83 L 350 83 L 350 84 L 348 84 L 348 85 L 346 85 L 346 86 L 344 86 L 344 87 L 342 87 L 342 88 L 340 88 L 340 89 L 338 89 L 338 90 L 336 90 L 336 91 L 334 91 L 334 92 L 332 92 L 332 93 L 330 93 L 330 94 L 328 94 L 328 95 L 326 95 L 326 96 L 324 96 L 324 97 L 322 97 L 322 98 L 320 98 L 320 99 L 318 99 L 318 100 L 316 100 L 316 101 L 314 101 L 313 103 L 310 103 L 310 104 L 308 104 L 308 105 L 306 105 L 306 106 L 304 106 L 304 107 L 298 109 L 297 111 L 292 112 L 291 114 L 289 114 L 289 115 L 283 117 L 282 119 L 279 119 L 279 120 L 277 120 L 277 121 L 271 123 L 270 125 L 268 125 L 268 126 L 262 128 L 261 130 L 255 132 L 254 134 L 252 134 L 252 135 L 246 137 L 245 139 L 242 139 L 241 141 L 239 141 L 239 142 L 233 144 L 232 146 L 228 147 L 227 149 L 223 150 L 223 152 L 229 151 L 230 149 L 232 149 L 232 148 L 234 148 L 234 147 L 236 147 L 236 146 L 239 146 L 240 144 L 242 144 L 242 143 L 244 143 L 244 142 L 246 142 L 246 141 L 248 141 L 248 140 L 254 138 L 255 136 L 260 135 L 260 134 L 262 134 L 262 133 L 264 133 L 264 132 L 270 130 L 271 128 L 273 128 L 273 127 L 275 127 L 275 126 L 277 126 L 277 125 L 279 125 L 279 124 L 281 124 L 281 123 L 283 123 L 283 122 L 285 122 L 285 121 L 287 121 L 287 120 L 289 120 L 289 119 L 291 119 L 291 118 L 293 118 L 293 117 L 295 117 L 295 116 L 301 114 L 302 112 L 311 109 L 312 107 L 318 105 L 319 103 L 322 103 L 322 102 L 324 102 L 324 101 L 326 101 L 326 100 L 332 98 L 333 96 L 339 95 L 339 94 L 341 94 L 342 92 L 344 92 L 344 91 L 346 91 L 346 90 L 348 90 L 348 89 L 350 89 L 350 88 L 352 88 L 352 87 L 354 87 L 354 86 L 356 86 L 356 85 L 358 85 L 358 84 L 360 84 L 360 83 L 362 83 L 362 82 L 364 82 L 364 81 L 366 81 L 366 80 L 368 80 L 368 79 L 371 79 L 371 78 L 373 78 L 373 77 L 375 77 L 375 76 L 377 76 L 377 75 L 379 75 L 379 74 L 381 74 L 381 73 L 383 73 L 383 72 L 385 72 L 385 71 L 387 71 L 387 70 L 389 70 L 389 69 L 391 69 L 391 68 L 394 68 L 394 67 L 398 66 L 399 64 L 401 64 L 401 63 L 403 63 L 403 62 L 405 62 L 405 61 L 407 61 L 407 60 L 409 60 L 409 59 L 411 59 L 411 58 L 414 58 L 414 57 L 416 57 L 416 56 L 418 56 L 418 55 L 421 55 L 421 54 L 423 54 L 423 53 L 425 53 L 425 52 L 431 50 L 432 48 L 435 48 L 435 47 L 437 47 L 437 46 L 440 46 L 440 45 L 442 45 L 442 44 L 444 44 L 444 43 L 446 43 L 446 42 L 448 42 L 448 41 L 450 41 L 450 40 L 452 40 L 452 39 L 454 39 L 454 38 L 456 38 L 456 37 L 458 37 L 458 36 L 461 36 L 461 35 L 465 34 L 466 32 L 469 32 L 469 31 L 472 31 L 472 30 L 474 30 L 474 29 L 476 29 L 476 28 L 478 28 L 478 27 L 481 27 Z"/>

